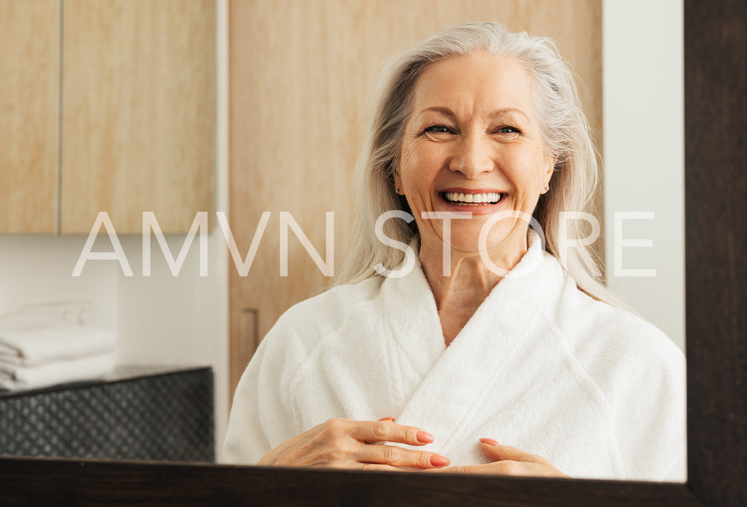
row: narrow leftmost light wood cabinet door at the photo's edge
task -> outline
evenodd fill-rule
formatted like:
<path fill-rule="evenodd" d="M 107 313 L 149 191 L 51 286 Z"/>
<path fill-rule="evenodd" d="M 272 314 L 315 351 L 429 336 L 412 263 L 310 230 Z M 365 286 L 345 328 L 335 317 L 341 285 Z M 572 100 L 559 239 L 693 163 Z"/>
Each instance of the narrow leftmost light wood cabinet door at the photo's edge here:
<path fill-rule="evenodd" d="M 57 227 L 58 0 L 0 0 L 0 233 Z"/>

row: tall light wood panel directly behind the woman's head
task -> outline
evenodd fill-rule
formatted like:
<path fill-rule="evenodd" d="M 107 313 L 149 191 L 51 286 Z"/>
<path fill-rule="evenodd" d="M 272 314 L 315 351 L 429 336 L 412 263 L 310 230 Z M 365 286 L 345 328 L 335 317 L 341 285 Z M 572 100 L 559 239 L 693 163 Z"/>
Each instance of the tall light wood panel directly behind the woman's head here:
<path fill-rule="evenodd" d="M 244 310 L 257 311 L 264 336 L 328 283 L 292 234 L 288 277 L 279 277 L 279 212 L 291 212 L 322 255 L 324 214 L 334 212 L 341 259 L 365 104 L 392 51 L 468 21 L 553 37 L 589 90 L 592 123 L 602 124 L 601 0 L 233 0 L 229 15 L 230 221 L 242 256 L 261 212 L 272 213 L 248 276 L 230 268 L 232 389 L 252 353 Z"/>

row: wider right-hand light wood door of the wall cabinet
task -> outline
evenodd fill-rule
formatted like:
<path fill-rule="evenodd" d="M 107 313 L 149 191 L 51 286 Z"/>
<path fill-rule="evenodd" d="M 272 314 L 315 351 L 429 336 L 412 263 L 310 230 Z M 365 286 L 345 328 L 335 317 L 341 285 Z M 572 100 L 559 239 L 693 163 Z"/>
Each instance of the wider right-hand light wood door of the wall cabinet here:
<path fill-rule="evenodd" d="M 61 232 L 213 213 L 214 0 L 66 0 Z"/>

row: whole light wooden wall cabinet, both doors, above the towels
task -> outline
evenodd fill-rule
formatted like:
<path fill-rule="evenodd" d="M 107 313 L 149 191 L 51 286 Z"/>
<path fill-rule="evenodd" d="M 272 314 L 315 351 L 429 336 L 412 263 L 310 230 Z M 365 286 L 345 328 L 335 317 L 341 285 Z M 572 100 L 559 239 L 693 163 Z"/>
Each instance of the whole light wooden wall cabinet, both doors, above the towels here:
<path fill-rule="evenodd" d="M 213 0 L 0 0 L 0 14 L 0 232 L 87 234 L 106 211 L 140 233 L 152 211 L 180 233 L 212 215 Z"/>

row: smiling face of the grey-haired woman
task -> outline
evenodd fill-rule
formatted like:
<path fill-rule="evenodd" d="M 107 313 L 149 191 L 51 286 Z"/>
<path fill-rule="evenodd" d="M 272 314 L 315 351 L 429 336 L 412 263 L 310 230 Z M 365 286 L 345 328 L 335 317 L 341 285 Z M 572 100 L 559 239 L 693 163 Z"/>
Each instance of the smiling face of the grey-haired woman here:
<path fill-rule="evenodd" d="M 450 225 L 452 250 L 464 252 L 479 251 L 480 230 L 495 212 L 532 214 L 555 158 L 545 153 L 531 97 L 519 63 L 484 52 L 440 60 L 418 78 L 395 187 L 415 215 L 421 248 L 440 249 L 443 239 L 442 221 L 422 212 L 471 212 Z M 488 252 L 523 254 L 527 225 L 498 221 Z"/>

